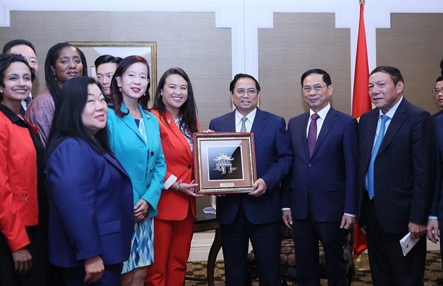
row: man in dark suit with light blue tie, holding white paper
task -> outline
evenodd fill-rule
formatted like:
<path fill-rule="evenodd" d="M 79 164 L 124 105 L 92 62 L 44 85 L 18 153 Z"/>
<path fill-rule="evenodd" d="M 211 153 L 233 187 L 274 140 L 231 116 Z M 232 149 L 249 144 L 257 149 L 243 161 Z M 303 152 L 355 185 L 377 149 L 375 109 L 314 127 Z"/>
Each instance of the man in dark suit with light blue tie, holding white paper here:
<path fill-rule="evenodd" d="M 365 227 L 374 285 L 423 285 L 426 221 L 435 173 L 431 115 L 403 97 L 392 66 L 369 76 L 375 109 L 359 121 L 359 225 Z M 403 256 L 399 240 L 421 238 Z"/>

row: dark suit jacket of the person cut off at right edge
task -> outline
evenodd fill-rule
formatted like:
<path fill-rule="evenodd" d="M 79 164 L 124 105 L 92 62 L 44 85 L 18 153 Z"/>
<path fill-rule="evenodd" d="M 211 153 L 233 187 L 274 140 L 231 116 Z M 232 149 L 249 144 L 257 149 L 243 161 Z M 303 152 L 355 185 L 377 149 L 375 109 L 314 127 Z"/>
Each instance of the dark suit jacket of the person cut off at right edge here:
<path fill-rule="evenodd" d="M 443 116 L 435 119 L 435 186 L 429 215 L 438 217 L 438 225 L 443 229 Z"/>

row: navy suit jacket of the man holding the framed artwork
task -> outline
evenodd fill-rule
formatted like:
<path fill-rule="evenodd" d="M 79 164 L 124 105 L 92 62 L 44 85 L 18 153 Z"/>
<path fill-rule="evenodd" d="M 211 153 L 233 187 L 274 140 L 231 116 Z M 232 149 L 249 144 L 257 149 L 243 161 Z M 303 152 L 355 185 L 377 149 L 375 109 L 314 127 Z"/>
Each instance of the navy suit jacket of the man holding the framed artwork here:
<path fill-rule="evenodd" d="M 210 121 L 215 132 L 235 132 L 235 111 Z M 255 141 L 257 178 L 266 182 L 267 190 L 260 197 L 231 194 L 217 198 L 217 220 L 230 224 L 235 219 L 240 202 L 249 222 L 265 224 L 282 220 L 280 182 L 292 165 L 292 152 L 284 118 L 257 108 L 251 128 Z"/>

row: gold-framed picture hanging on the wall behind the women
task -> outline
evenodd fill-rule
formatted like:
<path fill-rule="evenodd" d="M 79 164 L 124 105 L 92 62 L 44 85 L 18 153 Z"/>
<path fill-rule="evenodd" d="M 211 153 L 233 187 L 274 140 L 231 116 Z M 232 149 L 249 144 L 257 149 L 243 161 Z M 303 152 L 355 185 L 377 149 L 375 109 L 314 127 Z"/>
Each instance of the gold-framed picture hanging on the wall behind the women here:
<path fill-rule="evenodd" d="M 100 55 L 127 57 L 141 55 L 150 66 L 150 96 L 153 98 L 157 87 L 157 43 L 156 42 L 69 42 L 80 48 L 88 63 L 88 75 L 97 78 L 94 61 Z"/>

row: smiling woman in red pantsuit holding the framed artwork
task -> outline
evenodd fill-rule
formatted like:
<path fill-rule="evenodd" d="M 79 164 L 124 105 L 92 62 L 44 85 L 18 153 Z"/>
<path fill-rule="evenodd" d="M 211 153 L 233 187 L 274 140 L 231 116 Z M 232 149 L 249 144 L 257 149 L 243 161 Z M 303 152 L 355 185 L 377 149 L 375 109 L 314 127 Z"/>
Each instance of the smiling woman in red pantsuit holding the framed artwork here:
<path fill-rule="evenodd" d="M 197 106 L 188 75 L 180 68 L 163 73 L 152 113 L 159 118 L 166 177 L 154 217 L 154 263 L 147 286 L 183 285 L 194 234 L 195 187 L 192 134 L 198 132 Z"/>

